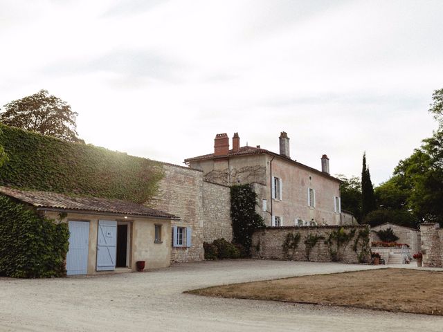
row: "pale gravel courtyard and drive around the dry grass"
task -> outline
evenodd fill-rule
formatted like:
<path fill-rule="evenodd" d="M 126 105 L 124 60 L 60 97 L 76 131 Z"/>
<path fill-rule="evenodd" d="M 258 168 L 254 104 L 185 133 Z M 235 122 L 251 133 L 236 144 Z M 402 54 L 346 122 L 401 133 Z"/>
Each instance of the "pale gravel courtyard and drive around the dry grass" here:
<path fill-rule="evenodd" d="M 236 260 L 98 277 L 0 278 L 0 331 L 442 331 L 442 317 L 182 293 L 369 268 Z"/>

